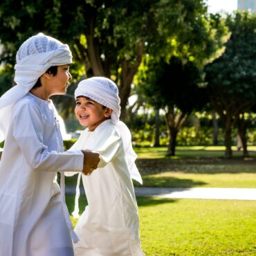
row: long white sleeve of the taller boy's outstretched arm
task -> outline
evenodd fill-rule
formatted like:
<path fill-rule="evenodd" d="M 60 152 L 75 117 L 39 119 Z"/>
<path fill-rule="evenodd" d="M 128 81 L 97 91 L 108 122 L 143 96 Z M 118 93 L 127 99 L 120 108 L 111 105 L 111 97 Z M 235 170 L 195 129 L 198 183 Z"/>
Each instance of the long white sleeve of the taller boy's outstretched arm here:
<path fill-rule="evenodd" d="M 43 141 L 41 113 L 30 102 L 17 106 L 13 116 L 13 136 L 28 165 L 35 171 L 82 172 L 84 156 L 81 151 L 49 152 Z"/>

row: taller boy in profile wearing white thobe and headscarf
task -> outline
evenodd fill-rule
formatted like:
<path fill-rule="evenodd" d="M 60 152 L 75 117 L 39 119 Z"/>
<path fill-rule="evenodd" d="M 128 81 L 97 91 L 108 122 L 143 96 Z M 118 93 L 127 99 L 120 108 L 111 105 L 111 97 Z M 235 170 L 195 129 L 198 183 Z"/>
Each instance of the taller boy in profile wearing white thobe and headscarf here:
<path fill-rule="evenodd" d="M 16 56 L 15 82 L 0 98 L 0 255 L 73 256 L 68 210 L 56 172 L 90 173 L 100 160 L 90 152 L 63 152 L 51 95 L 71 80 L 71 51 L 42 33 Z"/>

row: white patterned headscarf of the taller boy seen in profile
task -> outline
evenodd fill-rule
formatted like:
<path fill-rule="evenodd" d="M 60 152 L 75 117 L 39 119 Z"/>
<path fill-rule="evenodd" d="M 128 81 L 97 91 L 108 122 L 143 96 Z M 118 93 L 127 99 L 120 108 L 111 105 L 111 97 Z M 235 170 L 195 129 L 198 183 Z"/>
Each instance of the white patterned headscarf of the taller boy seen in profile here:
<path fill-rule="evenodd" d="M 68 45 L 39 33 L 21 44 L 16 55 L 15 82 L 0 98 L 0 142 L 5 140 L 12 107 L 33 88 L 38 78 L 51 66 L 71 64 Z"/>

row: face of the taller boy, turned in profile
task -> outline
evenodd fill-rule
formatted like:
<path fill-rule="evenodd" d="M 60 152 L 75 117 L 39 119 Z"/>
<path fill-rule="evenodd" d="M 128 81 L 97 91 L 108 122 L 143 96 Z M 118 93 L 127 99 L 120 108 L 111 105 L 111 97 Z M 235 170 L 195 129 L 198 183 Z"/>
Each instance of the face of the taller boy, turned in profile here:
<path fill-rule="evenodd" d="M 51 75 L 51 84 L 48 86 L 50 95 L 61 95 L 66 93 L 68 81 L 71 80 L 69 65 L 57 66 L 57 74 Z"/>

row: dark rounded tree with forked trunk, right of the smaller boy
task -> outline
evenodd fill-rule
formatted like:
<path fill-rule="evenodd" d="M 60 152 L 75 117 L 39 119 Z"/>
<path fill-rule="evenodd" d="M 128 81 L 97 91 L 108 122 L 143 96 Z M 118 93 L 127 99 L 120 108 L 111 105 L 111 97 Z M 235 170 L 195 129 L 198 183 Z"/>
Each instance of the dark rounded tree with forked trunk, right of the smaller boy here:
<path fill-rule="evenodd" d="M 170 135 L 167 156 L 174 156 L 176 137 L 185 120 L 208 101 L 205 89 L 199 87 L 201 73 L 194 62 L 184 64 L 179 57 L 172 57 L 169 63 L 149 65 L 148 73 L 151 75 L 140 89 L 152 106 L 164 109 Z"/>

